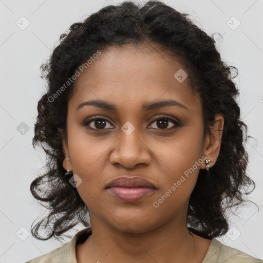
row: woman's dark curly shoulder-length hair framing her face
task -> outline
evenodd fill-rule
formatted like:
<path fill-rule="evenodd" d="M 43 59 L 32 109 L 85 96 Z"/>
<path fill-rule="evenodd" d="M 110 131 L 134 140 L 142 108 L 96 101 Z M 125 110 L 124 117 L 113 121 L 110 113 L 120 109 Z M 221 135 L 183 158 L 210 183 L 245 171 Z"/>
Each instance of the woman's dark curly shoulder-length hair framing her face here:
<path fill-rule="evenodd" d="M 37 104 L 32 143 L 34 148 L 40 145 L 44 149 L 47 170 L 32 181 L 30 191 L 49 214 L 34 228 L 31 226 L 35 238 L 47 240 L 53 236 L 59 239 L 78 223 L 90 226 L 87 205 L 76 187 L 69 183 L 62 166 L 65 157 L 62 140 L 67 138 L 67 102 L 72 96 L 74 82 L 54 103 L 50 98 L 97 50 L 151 43 L 181 59 L 190 72 L 191 86 L 201 98 L 204 133 L 211 134 L 216 114 L 224 118 L 218 159 L 209 174 L 199 171 L 190 196 L 187 226 L 192 232 L 208 238 L 227 233 L 227 212 L 247 201 L 245 196 L 255 189 L 254 181 L 246 174 L 245 143 L 250 136 L 247 136 L 247 125 L 240 119 L 236 102 L 239 91 L 232 81 L 238 70 L 221 60 L 213 35 L 207 35 L 187 16 L 189 14 L 159 1 L 149 1 L 143 6 L 123 2 L 100 9 L 84 22 L 72 24 L 69 32 L 61 35 L 59 45 L 40 68 L 48 89 Z M 233 77 L 234 69 L 236 76 Z M 46 238 L 38 234 L 40 227 L 50 228 Z"/>

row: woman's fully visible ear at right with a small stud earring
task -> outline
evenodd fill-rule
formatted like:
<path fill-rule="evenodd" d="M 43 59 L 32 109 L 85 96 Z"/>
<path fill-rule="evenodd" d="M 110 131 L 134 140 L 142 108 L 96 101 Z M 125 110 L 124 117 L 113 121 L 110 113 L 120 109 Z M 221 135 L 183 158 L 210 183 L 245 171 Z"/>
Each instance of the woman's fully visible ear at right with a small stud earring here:
<path fill-rule="evenodd" d="M 220 152 L 221 138 L 223 133 L 224 119 L 221 114 L 215 115 L 213 126 L 210 126 L 211 135 L 206 135 L 203 144 L 203 155 L 205 159 L 211 160 L 209 166 L 212 167 L 216 163 Z M 201 169 L 205 169 L 204 161 L 200 165 Z"/>

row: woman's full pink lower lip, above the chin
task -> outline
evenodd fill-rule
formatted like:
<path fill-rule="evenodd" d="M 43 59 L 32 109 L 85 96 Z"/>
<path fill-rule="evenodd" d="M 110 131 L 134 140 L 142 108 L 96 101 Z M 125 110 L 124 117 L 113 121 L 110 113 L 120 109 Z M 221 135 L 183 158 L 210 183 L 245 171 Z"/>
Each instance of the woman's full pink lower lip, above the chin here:
<path fill-rule="evenodd" d="M 114 186 L 108 188 L 109 192 L 125 202 L 136 202 L 151 194 L 154 189 L 149 187 L 122 187 Z"/>

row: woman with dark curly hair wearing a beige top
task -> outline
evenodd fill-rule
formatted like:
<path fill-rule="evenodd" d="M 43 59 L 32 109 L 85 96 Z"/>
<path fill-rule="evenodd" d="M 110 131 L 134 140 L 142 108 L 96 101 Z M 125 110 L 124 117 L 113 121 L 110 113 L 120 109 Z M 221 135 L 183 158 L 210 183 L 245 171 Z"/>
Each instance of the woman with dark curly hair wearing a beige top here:
<path fill-rule="evenodd" d="M 50 214 L 31 233 L 86 228 L 27 263 L 263 262 L 215 239 L 255 184 L 231 67 L 186 14 L 158 1 L 105 7 L 42 69 L 33 145 L 48 171 L 30 190 Z"/>

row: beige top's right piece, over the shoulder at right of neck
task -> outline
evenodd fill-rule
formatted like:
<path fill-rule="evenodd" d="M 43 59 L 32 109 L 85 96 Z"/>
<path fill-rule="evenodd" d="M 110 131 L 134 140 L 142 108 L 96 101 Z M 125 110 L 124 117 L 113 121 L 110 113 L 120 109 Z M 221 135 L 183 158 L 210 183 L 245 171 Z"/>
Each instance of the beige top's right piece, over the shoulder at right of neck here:
<path fill-rule="evenodd" d="M 203 263 L 263 263 L 262 260 L 252 257 L 240 250 L 223 245 L 213 238 Z"/>

